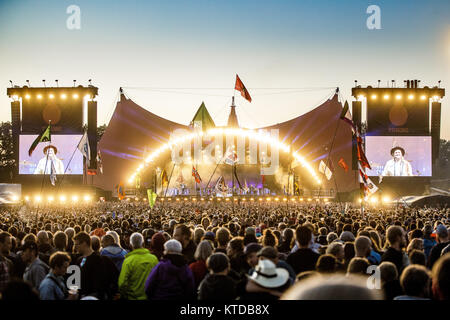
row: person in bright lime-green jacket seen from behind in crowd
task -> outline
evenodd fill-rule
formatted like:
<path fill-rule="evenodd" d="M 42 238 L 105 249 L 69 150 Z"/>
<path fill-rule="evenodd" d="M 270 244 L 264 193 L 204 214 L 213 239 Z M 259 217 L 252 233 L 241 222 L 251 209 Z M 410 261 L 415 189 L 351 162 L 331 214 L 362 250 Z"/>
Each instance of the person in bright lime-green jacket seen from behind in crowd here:
<path fill-rule="evenodd" d="M 119 275 L 119 293 L 122 299 L 147 299 L 145 281 L 158 263 L 158 259 L 148 249 L 143 248 L 143 245 L 144 237 L 140 233 L 133 233 L 130 237 L 130 246 L 133 250 L 126 254 Z"/>

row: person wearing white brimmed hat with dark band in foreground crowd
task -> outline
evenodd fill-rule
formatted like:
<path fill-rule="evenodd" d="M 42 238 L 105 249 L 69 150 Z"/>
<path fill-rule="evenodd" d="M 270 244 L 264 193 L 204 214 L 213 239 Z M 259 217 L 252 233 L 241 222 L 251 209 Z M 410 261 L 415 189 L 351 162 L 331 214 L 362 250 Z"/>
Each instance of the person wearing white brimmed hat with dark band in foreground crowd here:
<path fill-rule="evenodd" d="M 253 273 L 247 277 L 245 293 L 240 296 L 240 300 L 278 300 L 291 284 L 289 272 L 277 268 L 268 259 L 260 260 Z"/>

